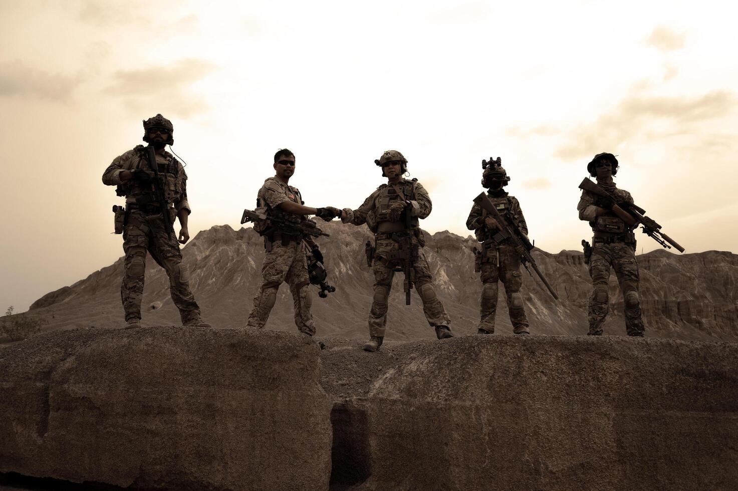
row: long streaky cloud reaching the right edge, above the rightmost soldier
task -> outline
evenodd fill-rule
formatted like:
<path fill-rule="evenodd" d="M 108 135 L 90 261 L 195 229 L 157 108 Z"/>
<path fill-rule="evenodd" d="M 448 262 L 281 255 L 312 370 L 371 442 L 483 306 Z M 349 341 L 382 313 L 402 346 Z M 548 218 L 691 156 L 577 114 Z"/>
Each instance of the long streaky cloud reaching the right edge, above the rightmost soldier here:
<path fill-rule="evenodd" d="M 683 127 L 723 117 L 734 106 L 735 97 L 727 91 L 701 97 L 627 97 L 593 123 L 574 128 L 568 142 L 556 150 L 556 157 L 571 160 L 596 154 L 602 148 L 617 151 L 619 145 L 641 133 L 649 122 L 669 120 Z"/>

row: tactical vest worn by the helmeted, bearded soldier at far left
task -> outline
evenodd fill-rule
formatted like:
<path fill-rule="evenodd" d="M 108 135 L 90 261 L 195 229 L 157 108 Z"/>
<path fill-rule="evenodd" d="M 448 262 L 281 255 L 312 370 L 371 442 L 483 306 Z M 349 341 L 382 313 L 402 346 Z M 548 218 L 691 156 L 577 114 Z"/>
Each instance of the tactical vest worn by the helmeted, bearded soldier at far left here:
<path fill-rule="evenodd" d="M 154 176 L 154 171 L 151 170 L 151 166 L 148 163 L 146 156 L 146 150 L 143 145 L 137 145 L 134 148 L 136 156 L 132 159 L 126 159 L 123 162 L 124 171 L 134 171 L 136 169 L 142 169 L 147 174 Z M 184 190 L 184 179 L 180 173 L 179 161 L 170 155 L 156 154 L 156 164 L 158 165 L 159 179 L 164 185 L 164 196 L 167 200 L 167 204 L 170 205 L 179 196 L 182 196 Z M 131 179 L 125 182 L 121 182 L 115 192 L 118 196 L 126 196 L 126 202 L 145 201 L 150 203 L 156 203 L 156 194 L 151 190 L 151 183 L 145 184 L 137 180 Z"/>

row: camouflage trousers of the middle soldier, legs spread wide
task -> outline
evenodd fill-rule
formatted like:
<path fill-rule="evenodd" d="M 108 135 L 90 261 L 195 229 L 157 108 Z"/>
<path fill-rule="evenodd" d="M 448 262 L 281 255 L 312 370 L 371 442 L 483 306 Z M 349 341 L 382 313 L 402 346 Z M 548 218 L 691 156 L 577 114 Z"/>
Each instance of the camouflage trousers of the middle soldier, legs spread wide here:
<path fill-rule="evenodd" d="M 413 243 L 418 244 L 416 238 Z M 374 253 L 374 298 L 369 312 L 369 335 L 384 337 L 385 326 L 387 326 L 387 300 L 392 289 L 392 280 L 395 276 L 394 264 L 387 264 L 382 258 L 389 253 L 400 249 L 398 242 L 392 239 L 376 241 L 376 252 Z M 451 319 L 446 314 L 444 305 L 435 294 L 435 286 L 432 283 L 430 267 L 425 255 L 418 247 L 418 258 L 413 264 L 415 270 L 415 290 L 423 302 L 423 312 L 431 327 L 451 326 Z M 402 274 L 402 273 L 400 273 Z"/>

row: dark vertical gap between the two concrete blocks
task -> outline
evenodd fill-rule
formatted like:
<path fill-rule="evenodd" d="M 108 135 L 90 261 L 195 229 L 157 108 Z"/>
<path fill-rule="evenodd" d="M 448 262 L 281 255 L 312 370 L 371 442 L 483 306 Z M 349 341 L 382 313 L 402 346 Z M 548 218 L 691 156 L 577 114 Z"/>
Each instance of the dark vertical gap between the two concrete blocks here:
<path fill-rule="evenodd" d="M 331 491 L 366 481 L 371 475 L 366 412 L 353 402 L 337 402 L 331 410 Z"/>

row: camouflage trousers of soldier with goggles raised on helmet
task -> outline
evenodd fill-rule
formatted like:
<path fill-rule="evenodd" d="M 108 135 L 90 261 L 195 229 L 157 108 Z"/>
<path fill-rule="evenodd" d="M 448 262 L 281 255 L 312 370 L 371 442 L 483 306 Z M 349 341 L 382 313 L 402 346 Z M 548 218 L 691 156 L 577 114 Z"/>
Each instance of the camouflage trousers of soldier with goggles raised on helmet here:
<path fill-rule="evenodd" d="M 483 251 L 482 261 L 482 295 L 480 304 L 480 322 L 478 329 L 494 332 L 494 314 L 497 312 L 497 286 L 502 281 L 507 296 L 508 313 L 515 334 L 528 332 L 528 317 L 525 316 L 523 295 L 523 273 L 520 272 L 520 257 L 514 247 L 500 245 L 488 247 Z"/>

